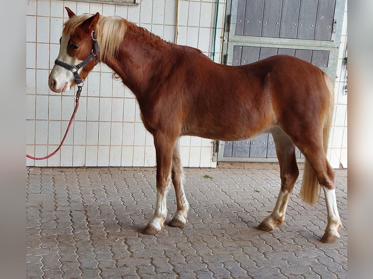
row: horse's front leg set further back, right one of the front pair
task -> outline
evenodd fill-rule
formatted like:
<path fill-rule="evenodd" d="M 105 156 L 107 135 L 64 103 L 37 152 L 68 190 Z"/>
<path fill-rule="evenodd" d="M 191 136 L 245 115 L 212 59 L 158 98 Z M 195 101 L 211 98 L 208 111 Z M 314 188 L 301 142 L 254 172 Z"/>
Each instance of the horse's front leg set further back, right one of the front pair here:
<path fill-rule="evenodd" d="M 178 140 L 176 140 L 173 148 L 171 178 L 173 187 L 175 188 L 177 209 L 168 225 L 172 227 L 183 227 L 186 223 L 189 203 L 184 193 L 184 172 L 180 161 Z"/>

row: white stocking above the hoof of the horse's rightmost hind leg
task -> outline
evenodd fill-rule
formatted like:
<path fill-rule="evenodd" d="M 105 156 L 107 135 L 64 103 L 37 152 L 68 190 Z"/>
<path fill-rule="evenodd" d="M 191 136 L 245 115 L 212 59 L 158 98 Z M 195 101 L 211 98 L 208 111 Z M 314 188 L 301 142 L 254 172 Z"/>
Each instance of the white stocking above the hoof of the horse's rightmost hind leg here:
<path fill-rule="evenodd" d="M 337 203 L 336 203 L 336 189 L 330 190 L 329 188 L 321 185 L 325 193 L 326 211 L 328 214 L 328 225 L 325 232 L 339 238 L 338 230 L 342 227 L 339 218 Z"/>

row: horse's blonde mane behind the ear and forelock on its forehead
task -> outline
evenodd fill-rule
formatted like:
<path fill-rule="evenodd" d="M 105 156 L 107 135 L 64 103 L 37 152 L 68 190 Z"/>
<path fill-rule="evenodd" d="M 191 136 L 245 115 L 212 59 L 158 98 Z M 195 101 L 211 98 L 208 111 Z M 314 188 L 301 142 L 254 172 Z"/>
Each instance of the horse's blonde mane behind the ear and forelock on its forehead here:
<path fill-rule="evenodd" d="M 91 14 L 83 14 L 69 18 L 64 23 L 63 35 L 71 36 L 75 29 L 81 25 L 86 19 L 92 17 Z M 115 56 L 123 40 L 123 36 L 127 31 L 129 22 L 122 17 L 106 17 L 101 16 L 96 24 L 95 33 L 97 36 L 98 47 L 100 48 L 101 60 L 105 57 Z"/>

